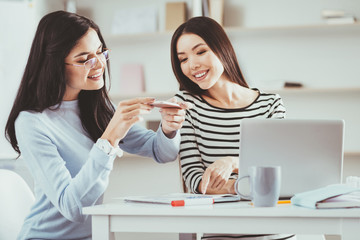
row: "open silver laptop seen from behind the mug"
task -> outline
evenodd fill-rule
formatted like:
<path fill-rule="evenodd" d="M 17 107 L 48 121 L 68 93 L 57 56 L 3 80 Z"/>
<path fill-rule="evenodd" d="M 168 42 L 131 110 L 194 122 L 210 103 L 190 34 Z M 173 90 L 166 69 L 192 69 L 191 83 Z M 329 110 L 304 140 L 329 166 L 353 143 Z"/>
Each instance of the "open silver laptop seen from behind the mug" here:
<path fill-rule="evenodd" d="M 244 119 L 239 176 L 250 166 L 281 166 L 280 198 L 341 183 L 343 120 Z M 248 193 L 248 182 L 239 189 Z"/>

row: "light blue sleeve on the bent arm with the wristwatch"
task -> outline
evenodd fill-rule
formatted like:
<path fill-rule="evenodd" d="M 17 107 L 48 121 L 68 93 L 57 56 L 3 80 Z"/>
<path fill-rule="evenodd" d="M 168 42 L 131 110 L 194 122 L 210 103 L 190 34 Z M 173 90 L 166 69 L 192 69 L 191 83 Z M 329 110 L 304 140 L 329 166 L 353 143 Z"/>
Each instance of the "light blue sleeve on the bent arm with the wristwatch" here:
<path fill-rule="evenodd" d="M 82 208 L 95 205 L 105 192 L 115 157 L 96 146 L 76 176 L 59 154 L 41 120 L 22 112 L 15 123 L 16 137 L 35 184 L 58 211 L 72 222 L 83 222 Z M 61 134 L 61 129 L 59 129 Z"/>

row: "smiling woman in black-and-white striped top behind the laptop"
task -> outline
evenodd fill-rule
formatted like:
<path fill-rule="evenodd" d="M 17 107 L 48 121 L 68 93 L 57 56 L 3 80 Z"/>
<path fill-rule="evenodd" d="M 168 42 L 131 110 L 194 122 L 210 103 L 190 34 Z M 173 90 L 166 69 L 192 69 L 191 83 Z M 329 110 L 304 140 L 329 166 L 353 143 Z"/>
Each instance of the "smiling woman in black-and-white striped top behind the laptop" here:
<path fill-rule="evenodd" d="M 244 118 L 284 118 L 277 94 L 250 89 L 223 28 L 195 17 L 171 40 L 171 62 L 180 85 L 179 100 L 194 104 L 181 129 L 180 164 L 194 193 L 235 194 L 239 171 L 240 124 Z M 202 239 L 295 239 L 289 234 L 218 235 Z"/>

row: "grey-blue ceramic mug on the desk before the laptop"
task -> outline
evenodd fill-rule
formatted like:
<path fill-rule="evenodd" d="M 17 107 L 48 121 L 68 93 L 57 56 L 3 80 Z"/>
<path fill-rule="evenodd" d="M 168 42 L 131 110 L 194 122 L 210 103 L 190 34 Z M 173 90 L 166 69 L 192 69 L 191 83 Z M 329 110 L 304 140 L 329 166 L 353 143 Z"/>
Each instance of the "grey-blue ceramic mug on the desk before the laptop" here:
<path fill-rule="evenodd" d="M 240 193 L 238 189 L 241 179 L 249 178 L 250 195 Z M 251 200 L 255 207 L 274 207 L 280 196 L 281 167 L 252 166 L 248 175 L 239 177 L 235 182 L 235 191 L 241 198 Z"/>

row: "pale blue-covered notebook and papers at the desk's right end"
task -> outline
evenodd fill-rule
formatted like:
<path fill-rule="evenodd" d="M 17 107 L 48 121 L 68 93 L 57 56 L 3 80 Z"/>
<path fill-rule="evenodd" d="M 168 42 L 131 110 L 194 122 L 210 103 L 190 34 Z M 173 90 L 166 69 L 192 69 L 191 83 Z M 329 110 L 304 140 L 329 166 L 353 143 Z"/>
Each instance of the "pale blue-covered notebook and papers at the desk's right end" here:
<path fill-rule="evenodd" d="M 311 191 L 297 193 L 291 198 L 293 205 L 308 208 L 360 207 L 360 188 L 334 184 Z"/>

